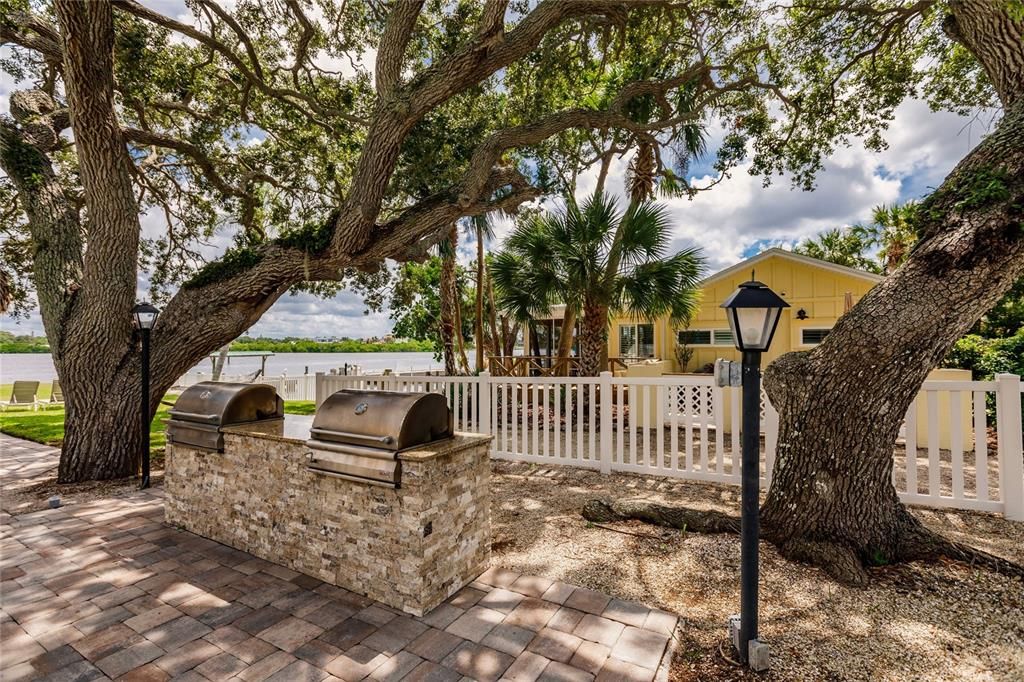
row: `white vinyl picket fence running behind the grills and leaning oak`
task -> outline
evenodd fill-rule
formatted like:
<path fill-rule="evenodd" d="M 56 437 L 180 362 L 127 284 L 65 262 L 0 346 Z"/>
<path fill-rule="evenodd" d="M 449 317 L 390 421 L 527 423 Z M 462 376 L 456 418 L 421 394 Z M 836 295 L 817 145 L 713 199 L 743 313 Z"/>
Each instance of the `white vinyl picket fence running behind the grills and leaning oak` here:
<path fill-rule="evenodd" d="M 342 388 L 432 391 L 455 428 L 495 436 L 492 457 L 602 473 L 739 483 L 739 389 L 712 377 L 315 376 L 318 406 Z M 893 484 L 907 503 L 1001 512 L 1024 520 L 1020 377 L 929 381 L 894 447 Z M 986 406 L 997 441 L 989 443 Z M 771 483 L 778 414 L 763 399 L 762 485 Z"/>

